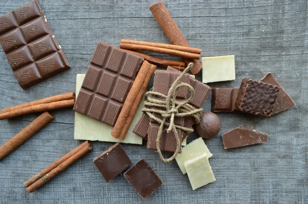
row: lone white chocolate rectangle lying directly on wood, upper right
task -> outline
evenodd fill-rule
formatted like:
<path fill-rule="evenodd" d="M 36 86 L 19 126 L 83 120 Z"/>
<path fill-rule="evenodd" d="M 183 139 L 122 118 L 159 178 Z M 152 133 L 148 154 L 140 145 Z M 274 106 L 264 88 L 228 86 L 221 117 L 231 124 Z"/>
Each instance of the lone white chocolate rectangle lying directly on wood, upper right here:
<path fill-rule="evenodd" d="M 202 57 L 202 82 L 235 80 L 234 55 Z"/>

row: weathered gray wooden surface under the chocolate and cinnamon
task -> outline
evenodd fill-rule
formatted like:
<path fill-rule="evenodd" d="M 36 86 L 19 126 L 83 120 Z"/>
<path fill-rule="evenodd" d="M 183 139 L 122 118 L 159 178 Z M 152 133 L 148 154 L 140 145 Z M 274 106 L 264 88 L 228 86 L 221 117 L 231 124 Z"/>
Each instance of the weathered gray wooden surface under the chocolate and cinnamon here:
<path fill-rule="evenodd" d="M 1 0 L 0 14 L 27 2 Z M 74 91 L 75 76 L 86 72 L 98 40 L 115 46 L 122 38 L 169 43 L 149 11 L 155 2 L 40 0 L 72 68 L 22 90 L 0 49 L 0 108 Z M 110 142 L 94 142 L 90 153 L 44 187 L 27 193 L 26 179 L 82 142 L 73 139 L 71 108 L 51 111 L 55 119 L 50 124 L 0 161 L 0 203 L 308 203 L 307 2 L 181 0 L 165 5 L 188 43 L 202 49 L 202 56 L 236 56 L 236 80 L 210 84 L 212 88 L 236 87 L 244 77 L 260 79 L 272 72 L 296 107 L 271 118 L 219 113 L 221 132 L 205 140 L 214 155 L 210 165 L 217 180 L 196 191 L 175 161 L 163 164 L 145 145 L 123 145 L 133 163 L 144 158 L 164 182 L 146 200 L 123 174 L 106 183 L 93 165 L 93 158 Z M 201 73 L 196 77 L 201 80 Z M 210 109 L 210 97 L 203 108 Z M 0 121 L 0 144 L 37 115 Z M 268 133 L 268 142 L 224 150 L 221 133 L 240 125 Z M 195 138 L 191 134 L 188 141 Z"/>

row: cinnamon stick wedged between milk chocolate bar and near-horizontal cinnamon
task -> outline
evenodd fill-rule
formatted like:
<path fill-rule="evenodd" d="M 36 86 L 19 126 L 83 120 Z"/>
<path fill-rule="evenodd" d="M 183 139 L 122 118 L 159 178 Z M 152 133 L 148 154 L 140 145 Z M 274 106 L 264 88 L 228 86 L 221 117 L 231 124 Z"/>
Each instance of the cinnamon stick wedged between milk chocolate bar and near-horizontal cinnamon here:
<path fill-rule="evenodd" d="M 177 67 L 183 67 L 183 70 L 184 70 L 184 66 L 185 66 L 184 62 L 153 57 L 153 56 L 150 56 L 144 53 L 135 52 L 131 50 L 125 50 L 125 51 L 133 53 L 133 54 L 137 54 L 143 57 L 145 60 L 147 60 L 150 64 L 153 64 L 153 65 L 162 66 L 162 67 L 177 66 Z"/>

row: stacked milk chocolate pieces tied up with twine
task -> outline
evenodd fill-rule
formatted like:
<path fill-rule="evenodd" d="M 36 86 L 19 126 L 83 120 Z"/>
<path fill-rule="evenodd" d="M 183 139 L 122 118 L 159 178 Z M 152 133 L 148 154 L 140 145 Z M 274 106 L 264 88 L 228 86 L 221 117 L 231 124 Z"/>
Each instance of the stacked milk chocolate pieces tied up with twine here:
<path fill-rule="evenodd" d="M 172 83 L 177 79 L 177 77 L 181 74 L 180 71 L 168 67 L 166 71 L 163 70 L 157 70 L 155 72 L 155 78 L 153 83 L 153 91 L 162 93 L 167 95 L 168 90 L 170 89 Z M 191 101 L 190 105 L 201 108 L 204 104 L 209 91 L 211 90 L 209 86 L 201 83 L 200 81 L 196 80 L 195 78 L 192 78 L 188 74 L 185 74 L 184 77 L 181 79 L 181 82 L 190 84 L 195 89 L 195 96 Z M 177 92 L 177 100 L 186 100 L 189 98 L 190 92 L 187 88 L 180 88 Z M 149 107 L 151 108 L 151 107 Z M 159 115 L 156 115 L 157 117 L 160 117 Z M 175 118 L 175 124 L 181 125 L 186 128 L 191 128 L 194 124 L 195 120 L 192 117 L 178 117 Z M 142 136 L 144 139 L 147 139 L 147 148 L 156 150 L 156 138 L 157 133 L 159 130 L 159 124 L 157 124 L 155 121 L 151 121 L 150 118 L 146 113 L 142 115 L 140 118 L 138 124 L 133 129 L 133 132 L 137 135 Z M 181 142 L 186 138 L 187 132 L 178 130 L 178 134 L 180 136 Z M 167 133 L 165 130 L 162 133 L 161 139 L 160 139 L 160 148 L 161 151 L 166 152 L 175 152 L 176 150 L 176 139 L 174 136 L 174 133 L 171 131 Z"/>

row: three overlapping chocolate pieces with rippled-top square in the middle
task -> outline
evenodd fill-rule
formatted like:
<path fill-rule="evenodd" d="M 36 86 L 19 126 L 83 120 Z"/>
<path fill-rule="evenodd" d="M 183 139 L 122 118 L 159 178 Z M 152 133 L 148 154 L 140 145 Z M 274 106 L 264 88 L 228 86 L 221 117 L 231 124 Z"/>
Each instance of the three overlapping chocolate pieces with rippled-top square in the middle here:
<path fill-rule="evenodd" d="M 239 88 L 214 89 L 211 111 L 242 111 L 262 117 L 284 111 L 295 106 L 292 98 L 278 84 L 272 73 L 260 81 L 244 78 Z"/>

